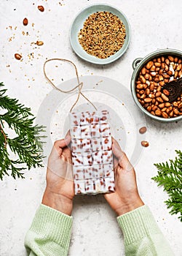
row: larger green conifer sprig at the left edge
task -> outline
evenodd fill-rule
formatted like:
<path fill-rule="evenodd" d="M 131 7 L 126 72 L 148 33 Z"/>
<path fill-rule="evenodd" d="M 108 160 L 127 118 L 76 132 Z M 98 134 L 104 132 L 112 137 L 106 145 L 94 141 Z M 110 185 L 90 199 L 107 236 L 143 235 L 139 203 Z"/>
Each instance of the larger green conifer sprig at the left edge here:
<path fill-rule="evenodd" d="M 42 142 L 40 133 L 44 127 L 33 126 L 34 117 L 31 108 L 25 108 L 17 99 L 6 95 L 7 89 L 0 83 L 0 178 L 11 174 L 13 178 L 24 178 L 23 171 L 28 167 L 42 166 Z M 4 124 L 13 129 L 17 136 L 9 138 Z M 11 152 L 12 151 L 12 152 Z M 11 157 L 11 153 L 15 157 Z M 14 159 L 15 158 L 15 159 Z"/>

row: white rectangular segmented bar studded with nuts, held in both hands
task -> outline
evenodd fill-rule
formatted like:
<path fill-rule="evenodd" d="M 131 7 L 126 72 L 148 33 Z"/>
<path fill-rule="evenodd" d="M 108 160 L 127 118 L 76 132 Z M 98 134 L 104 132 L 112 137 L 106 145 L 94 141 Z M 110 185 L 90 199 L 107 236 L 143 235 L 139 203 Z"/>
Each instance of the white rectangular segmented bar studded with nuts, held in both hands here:
<path fill-rule="evenodd" d="M 70 113 L 70 127 L 75 195 L 114 192 L 108 111 Z"/>

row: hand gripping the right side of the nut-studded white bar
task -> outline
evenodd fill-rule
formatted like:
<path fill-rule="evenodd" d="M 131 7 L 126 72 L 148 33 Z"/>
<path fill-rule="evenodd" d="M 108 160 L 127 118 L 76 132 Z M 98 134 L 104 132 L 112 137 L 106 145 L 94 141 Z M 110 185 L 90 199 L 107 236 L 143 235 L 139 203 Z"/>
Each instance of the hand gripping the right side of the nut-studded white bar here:
<path fill-rule="evenodd" d="M 116 191 L 105 194 L 111 208 L 118 216 L 143 206 L 143 201 L 138 194 L 135 170 L 127 159 L 116 140 L 112 140 L 114 154 L 114 173 Z"/>

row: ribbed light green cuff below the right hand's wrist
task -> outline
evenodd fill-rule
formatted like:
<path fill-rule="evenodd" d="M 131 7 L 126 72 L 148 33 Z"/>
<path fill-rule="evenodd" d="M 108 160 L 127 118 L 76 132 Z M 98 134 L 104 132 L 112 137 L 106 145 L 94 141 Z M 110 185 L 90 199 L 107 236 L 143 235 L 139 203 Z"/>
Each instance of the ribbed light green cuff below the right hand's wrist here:
<path fill-rule="evenodd" d="M 117 217 L 125 244 L 132 244 L 144 236 L 161 233 L 148 206 L 141 206 Z"/>

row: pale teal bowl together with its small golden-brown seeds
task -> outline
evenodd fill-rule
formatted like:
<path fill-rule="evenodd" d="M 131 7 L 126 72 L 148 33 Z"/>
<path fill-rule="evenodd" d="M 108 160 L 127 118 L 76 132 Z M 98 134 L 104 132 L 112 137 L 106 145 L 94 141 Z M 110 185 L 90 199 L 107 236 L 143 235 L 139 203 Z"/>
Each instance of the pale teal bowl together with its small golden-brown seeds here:
<path fill-rule="evenodd" d="M 70 42 L 85 61 L 109 64 L 119 59 L 130 43 L 130 24 L 123 12 L 108 4 L 93 4 L 76 15 Z"/>

